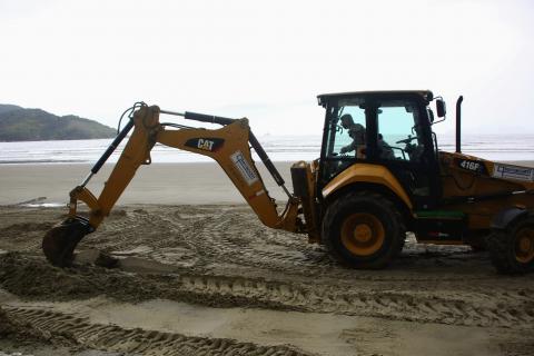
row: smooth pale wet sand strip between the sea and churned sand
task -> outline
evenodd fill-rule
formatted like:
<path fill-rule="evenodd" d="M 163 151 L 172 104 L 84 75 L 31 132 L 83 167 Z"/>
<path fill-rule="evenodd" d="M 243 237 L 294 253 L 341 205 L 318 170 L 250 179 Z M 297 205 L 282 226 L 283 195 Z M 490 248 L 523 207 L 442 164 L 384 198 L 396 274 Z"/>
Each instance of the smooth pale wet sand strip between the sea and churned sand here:
<path fill-rule="evenodd" d="M 275 162 L 293 190 L 289 162 Z M 0 165 L 0 205 L 13 205 L 37 198 L 41 202 L 68 202 L 69 191 L 81 184 L 91 165 Z M 96 175 L 89 189 L 99 194 L 111 172 L 112 165 L 105 165 Z M 263 165 L 258 165 L 269 194 L 276 199 L 287 198 L 270 178 Z M 152 164 L 142 166 L 134 177 L 119 205 L 129 204 L 239 204 L 245 202 L 230 179 L 215 162 L 206 164 Z"/>

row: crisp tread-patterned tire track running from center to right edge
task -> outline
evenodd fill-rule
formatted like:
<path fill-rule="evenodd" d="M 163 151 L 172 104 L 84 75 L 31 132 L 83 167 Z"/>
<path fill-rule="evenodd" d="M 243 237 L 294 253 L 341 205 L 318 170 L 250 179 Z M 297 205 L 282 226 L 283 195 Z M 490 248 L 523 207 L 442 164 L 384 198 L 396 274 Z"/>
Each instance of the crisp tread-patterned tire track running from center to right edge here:
<path fill-rule="evenodd" d="M 182 291 L 214 298 L 241 297 L 296 310 L 465 326 L 531 328 L 534 323 L 532 306 L 517 313 L 516 305 L 474 305 L 461 298 L 407 291 L 344 290 L 329 286 L 205 275 L 179 275 L 177 278 Z"/>

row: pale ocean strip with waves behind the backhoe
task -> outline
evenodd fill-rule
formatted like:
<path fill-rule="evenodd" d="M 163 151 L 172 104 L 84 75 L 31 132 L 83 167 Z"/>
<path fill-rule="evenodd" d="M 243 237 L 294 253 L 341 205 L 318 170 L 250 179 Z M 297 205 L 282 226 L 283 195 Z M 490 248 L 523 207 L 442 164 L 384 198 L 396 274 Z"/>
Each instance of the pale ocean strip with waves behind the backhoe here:
<path fill-rule="evenodd" d="M 258 137 L 273 161 L 313 160 L 320 154 L 320 136 Z M 92 164 L 98 160 L 111 139 L 0 142 L 0 164 Z M 125 140 L 126 142 L 126 140 Z M 109 158 L 117 161 L 123 144 Z M 454 151 L 454 136 L 441 136 L 438 147 Z M 463 137 L 462 151 L 497 161 L 534 160 L 534 135 L 477 135 Z M 152 162 L 208 162 L 210 158 L 156 145 Z M 256 156 L 256 160 L 259 158 Z"/>

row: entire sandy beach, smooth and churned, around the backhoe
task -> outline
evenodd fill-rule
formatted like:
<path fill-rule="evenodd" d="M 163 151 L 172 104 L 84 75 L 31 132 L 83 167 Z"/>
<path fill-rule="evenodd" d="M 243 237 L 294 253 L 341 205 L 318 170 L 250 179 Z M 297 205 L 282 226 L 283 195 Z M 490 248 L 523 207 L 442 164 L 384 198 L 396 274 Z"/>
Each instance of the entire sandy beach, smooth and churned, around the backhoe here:
<path fill-rule="evenodd" d="M 18 204 L 61 201 L 86 170 L 0 166 L 0 355 L 533 354 L 532 275 L 413 236 L 387 269 L 343 268 L 261 226 L 214 165 L 142 167 L 77 264 L 52 267 L 40 243 L 66 209 Z"/>

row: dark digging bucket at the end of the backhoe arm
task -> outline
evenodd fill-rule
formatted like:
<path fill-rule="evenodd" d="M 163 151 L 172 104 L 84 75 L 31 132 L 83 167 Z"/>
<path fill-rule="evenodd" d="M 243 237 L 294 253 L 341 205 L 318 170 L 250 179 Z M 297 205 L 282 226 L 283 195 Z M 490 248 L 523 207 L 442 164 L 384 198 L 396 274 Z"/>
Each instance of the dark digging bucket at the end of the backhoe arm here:
<path fill-rule="evenodd" d="M 92 233 L 89 222 L 80 217 L 68 218 L 51 228 L 42 239 L 42 250 L 47 259 L 57 267 L 68 267 L 72 264 L 73 251 L 78 243 Z"/>

